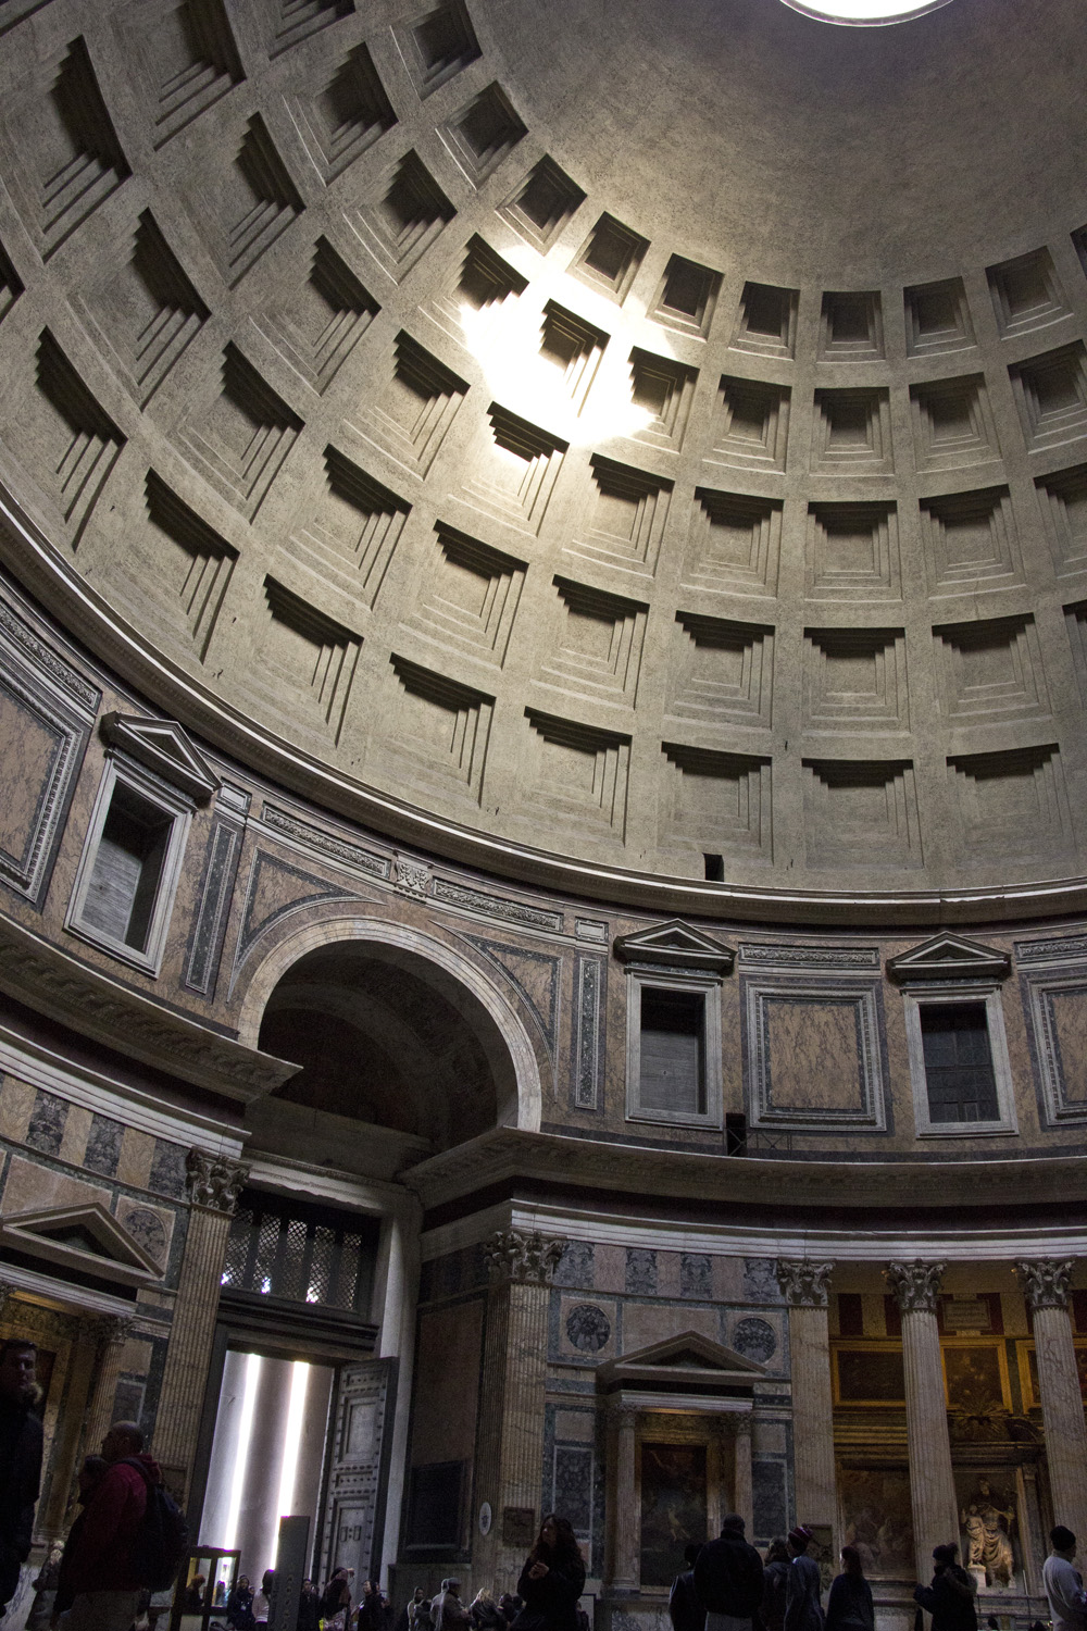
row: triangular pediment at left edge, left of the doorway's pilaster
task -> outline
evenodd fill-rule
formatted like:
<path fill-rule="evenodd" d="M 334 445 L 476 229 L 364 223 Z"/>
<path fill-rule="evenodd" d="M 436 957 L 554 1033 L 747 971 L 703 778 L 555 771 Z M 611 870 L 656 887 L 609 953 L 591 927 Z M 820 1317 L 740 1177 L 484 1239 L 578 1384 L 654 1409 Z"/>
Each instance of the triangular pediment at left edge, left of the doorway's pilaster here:
<path fill-rule="evenodd" d="M 62 1279 L 137 1288 L 161 1280 L 155 1258 L 98 1202 L 0 1218 L 0 1254 Z"/>

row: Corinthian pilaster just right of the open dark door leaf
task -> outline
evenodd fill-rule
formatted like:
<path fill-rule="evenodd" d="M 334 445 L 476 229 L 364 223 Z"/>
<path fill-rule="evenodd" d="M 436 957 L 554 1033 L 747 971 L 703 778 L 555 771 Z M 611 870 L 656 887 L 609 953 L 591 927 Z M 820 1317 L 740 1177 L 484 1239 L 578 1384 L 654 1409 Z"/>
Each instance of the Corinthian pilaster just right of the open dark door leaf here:
<path fill-rule="evenodd" d="M 504 1230 L 484 1246 L 491 1290 L 476 1502 L 489 1502 L 492 1522 L 487 1535 L 473 1536 L 473 1574 L 492 1584 L 495 1597 L 517 1587 L 543 1515 L 548 1303 L 562 1246 L 561 1240 L 518 1230 Z M 528 1528 L 533 1533 L 526 1545 Z"/>

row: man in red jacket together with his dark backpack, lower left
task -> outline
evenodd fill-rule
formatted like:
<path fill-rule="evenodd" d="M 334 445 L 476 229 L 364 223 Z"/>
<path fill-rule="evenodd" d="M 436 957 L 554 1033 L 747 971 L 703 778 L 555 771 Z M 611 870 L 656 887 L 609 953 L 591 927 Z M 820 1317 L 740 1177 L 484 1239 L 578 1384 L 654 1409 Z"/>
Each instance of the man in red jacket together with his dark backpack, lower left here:
<path fill-rule="evenodd" d="M 103 1440 L 108 1461 L 101 1483 L 86 1504 L 80 1536 L 70 1564 L 75 1593 L 72 1608 L 60 1616 L 64 1631 L 129 1631 L 143 1587 L 155 1587 L 179 1554 L 165 1505 L 158 1463 L 143 1455 L 143 1434 L 135 1422 L 114 1422 Z M 176 1512 L 176 1507 L 174 1507 Z M 181 1536 L 184 1546 L 184 1535 Z"/>

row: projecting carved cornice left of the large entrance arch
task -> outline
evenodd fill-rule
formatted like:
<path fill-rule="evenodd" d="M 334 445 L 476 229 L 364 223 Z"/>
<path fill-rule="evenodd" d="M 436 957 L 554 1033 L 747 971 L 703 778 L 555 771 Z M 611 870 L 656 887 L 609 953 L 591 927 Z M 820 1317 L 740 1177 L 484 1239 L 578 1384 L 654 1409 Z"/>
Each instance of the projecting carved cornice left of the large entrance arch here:
<path fill-rule="evenodd" d="M 298 1065 L 160 1006 L 5 917 L 0 990 L 80 1036 L 243 1104 L 298 1073 Z"/>

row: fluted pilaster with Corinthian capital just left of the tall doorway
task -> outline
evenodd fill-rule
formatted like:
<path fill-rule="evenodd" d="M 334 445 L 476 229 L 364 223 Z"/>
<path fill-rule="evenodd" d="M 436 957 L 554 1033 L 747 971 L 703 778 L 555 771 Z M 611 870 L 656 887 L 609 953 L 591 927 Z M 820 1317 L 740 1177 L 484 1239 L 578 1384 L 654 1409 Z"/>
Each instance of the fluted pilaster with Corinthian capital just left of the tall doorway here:
<path fill-rule="evenodd" d="M 230 1218 L 249 1169 L 205 1150 L 189 1150 L 186 1168 L 192 1202 L 189 1233 L 155 1417 L 153 1453 L 169 1470 L 168 1483 L 184 1486 L 187 1494 L 212 1359 Z"/>

